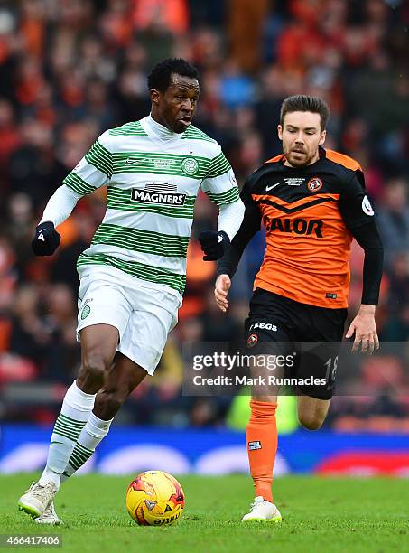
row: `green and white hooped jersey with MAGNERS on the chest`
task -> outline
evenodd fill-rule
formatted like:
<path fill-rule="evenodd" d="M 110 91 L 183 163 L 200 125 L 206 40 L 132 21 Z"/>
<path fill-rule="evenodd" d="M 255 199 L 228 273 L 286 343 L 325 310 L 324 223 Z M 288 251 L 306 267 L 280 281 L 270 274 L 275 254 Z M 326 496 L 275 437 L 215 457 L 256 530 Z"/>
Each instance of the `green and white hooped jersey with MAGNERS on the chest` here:
<path fill-rule="evenodd" d="M 107 212 L 79 256 L 79 273 L 107 265 L 178 295 L 200 187 L 218 206 L 239 197 L 215 140 L 193 126 L 171 133 L 150 116 L 99 136 L 64 184 L 81 196 L 107 185 Z"/>

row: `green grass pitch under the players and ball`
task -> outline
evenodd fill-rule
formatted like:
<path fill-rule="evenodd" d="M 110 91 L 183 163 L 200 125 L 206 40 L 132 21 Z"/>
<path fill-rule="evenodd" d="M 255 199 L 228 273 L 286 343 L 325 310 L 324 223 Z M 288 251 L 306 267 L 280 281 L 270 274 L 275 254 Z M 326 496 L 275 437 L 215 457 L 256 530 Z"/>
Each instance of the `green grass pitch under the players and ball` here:
<path fill-rule="evenodd" d="M 131 477 L 92 474 L 63 484 L 55 505 L 65 525 L 39 528 L 16 507 L 31 476 L 36 477 L 0 477 L 0 533 L 61 534 L 57 551 L 409 550 L 409 480 L 404 479 L 277 478 L 274 497 L 282 524 L 244 525 L 240 518 L 252 499 L 248 477 L 181 476 L 184 514 L 172 526 L 155 528 L 137 526 L 125 510 Z"/>

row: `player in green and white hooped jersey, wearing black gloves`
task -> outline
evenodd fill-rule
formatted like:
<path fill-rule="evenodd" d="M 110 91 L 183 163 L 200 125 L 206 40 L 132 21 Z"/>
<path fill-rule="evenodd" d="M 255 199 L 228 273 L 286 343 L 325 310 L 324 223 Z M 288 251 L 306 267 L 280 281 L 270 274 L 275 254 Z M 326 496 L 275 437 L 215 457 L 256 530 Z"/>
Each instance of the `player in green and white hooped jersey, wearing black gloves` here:
<path fill-rule="evenodd" d="M 245 208 L 220 146 L 193 127 L 200 86 L 188 61 L 158 63 L 148 77 L 151 113 L 108 129 L 51 196 L 33 239 L 51 255 L 55 227 L 82 196 L 107 185 L 107 211 L 79 256 L 81 367 L 62 402 L 38 483 L 19 500 L 42 524 L 60 522 L 60 483 L 93 455 L 117 411 L 153 375 L 177 323 L 199 189 L 218 204 L 218 230 L 201 234 L 206 260 L 218 259 Z"/>

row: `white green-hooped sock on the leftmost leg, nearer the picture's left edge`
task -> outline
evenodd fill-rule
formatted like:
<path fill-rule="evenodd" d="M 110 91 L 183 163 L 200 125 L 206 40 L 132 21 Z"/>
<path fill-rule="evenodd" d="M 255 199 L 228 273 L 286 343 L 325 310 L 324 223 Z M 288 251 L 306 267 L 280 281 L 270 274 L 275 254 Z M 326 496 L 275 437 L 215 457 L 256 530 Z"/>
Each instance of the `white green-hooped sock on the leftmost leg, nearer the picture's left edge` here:
<path fill-rule="evenodd" d="M 52 482 L 57 488 L 60 487 L 60 475 L 94 408 L 95 396 L 96 394 L 86 394 L 79 389 L 76 380 L 67 390 L 52 431 L 47 464 L 39 480 L 41 485 Z"/>

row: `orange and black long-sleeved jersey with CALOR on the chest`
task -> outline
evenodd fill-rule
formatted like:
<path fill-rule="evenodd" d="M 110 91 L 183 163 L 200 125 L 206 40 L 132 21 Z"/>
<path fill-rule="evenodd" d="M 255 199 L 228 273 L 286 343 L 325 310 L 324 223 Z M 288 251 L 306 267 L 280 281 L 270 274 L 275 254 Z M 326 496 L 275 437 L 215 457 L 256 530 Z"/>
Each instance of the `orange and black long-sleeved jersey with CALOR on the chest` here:
<path fill-rule="evenodd" d="M 265 226 L 265 257 L 255 289 L 297 302 L 347 307 L 349 252 L 353 238 L 364 248 L 362 303 L 376 305 L 383 248 L 359 164 L 347 155 L 320 148 L 317 162 L 284 165 L 284 155 L 266 162 L 246 180 L 243 223 L 218 275 L 234 274 L 248 241 Z"/>

